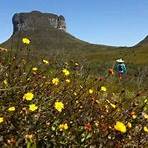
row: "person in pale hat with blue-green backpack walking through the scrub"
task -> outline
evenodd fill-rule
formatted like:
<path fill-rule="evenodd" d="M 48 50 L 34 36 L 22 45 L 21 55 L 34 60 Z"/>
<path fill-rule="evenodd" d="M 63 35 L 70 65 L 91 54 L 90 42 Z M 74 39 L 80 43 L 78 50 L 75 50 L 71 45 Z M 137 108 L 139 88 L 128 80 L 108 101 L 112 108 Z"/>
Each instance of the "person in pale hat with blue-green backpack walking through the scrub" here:
<path fill-rule="evenodd" d="M 123 74 L 125 74 L 127 71 L 124 61 L 122 59 L 116 60 L 115 70 L 118 73 L 119 79 L 122 79 Z"/>

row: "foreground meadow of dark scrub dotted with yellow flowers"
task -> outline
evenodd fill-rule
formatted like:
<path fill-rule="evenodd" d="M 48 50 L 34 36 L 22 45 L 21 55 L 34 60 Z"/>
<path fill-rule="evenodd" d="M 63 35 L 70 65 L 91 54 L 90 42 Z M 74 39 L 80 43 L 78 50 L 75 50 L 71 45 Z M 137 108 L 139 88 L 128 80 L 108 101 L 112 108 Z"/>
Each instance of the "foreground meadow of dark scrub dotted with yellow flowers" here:
<path fill-rule="evenodd" d="M 119 79 L 110 60 L 23 43 L 0 53 L 1 147 L 148 147 L 146 66 L 131 63 Z"/>

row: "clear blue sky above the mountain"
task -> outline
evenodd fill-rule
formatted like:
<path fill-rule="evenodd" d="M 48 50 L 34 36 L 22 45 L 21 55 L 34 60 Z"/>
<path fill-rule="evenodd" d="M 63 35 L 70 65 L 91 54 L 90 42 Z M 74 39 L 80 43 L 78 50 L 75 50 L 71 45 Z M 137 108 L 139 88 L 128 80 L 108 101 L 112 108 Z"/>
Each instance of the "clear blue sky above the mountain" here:
<path fill-rule="evenodd" d="M 18 12 L 63 15 L 67 31 L 95 44 L 133 46 L 148 35 L 148 0 L 0 0 L 0 43 Z"/>

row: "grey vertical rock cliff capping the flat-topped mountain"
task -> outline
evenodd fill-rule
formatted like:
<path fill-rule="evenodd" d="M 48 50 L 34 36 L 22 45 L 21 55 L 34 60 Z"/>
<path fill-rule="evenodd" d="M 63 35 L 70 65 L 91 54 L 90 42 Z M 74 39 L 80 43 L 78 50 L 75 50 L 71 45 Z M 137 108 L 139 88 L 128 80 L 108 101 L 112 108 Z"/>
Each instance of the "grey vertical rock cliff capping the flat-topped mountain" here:
<path fill-rule="evenodd" d="M 66 31 L 65 18 L 51 13 L 32 11 L 30 13 L 16 13 L 12 19 L 13 33 L 18 31 L 48 30 L 54 27 Z"/>

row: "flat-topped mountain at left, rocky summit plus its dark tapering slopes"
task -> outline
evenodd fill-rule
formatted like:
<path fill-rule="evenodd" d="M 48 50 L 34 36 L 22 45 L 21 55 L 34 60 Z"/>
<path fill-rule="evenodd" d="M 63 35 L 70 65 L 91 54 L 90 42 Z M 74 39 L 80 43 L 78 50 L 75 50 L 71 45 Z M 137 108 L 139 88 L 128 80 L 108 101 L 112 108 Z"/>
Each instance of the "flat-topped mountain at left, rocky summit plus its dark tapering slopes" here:
<path fill-rule="evenodd" d="M 67 32 L 64 16 L 52 13 L 32 11 L 28 13 L 16 13 L 12 18 L 13 34 L 2 44 L 6 48 L 23 47 L 23 37 L 31 40 L 30 48 L 39 51 L 66 50 L 76 52 L 90 49 L 106 49 L 109 46 L 94 45 L 82 41 Z"/>

